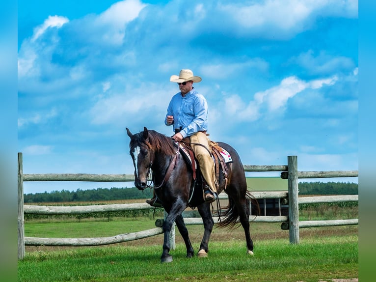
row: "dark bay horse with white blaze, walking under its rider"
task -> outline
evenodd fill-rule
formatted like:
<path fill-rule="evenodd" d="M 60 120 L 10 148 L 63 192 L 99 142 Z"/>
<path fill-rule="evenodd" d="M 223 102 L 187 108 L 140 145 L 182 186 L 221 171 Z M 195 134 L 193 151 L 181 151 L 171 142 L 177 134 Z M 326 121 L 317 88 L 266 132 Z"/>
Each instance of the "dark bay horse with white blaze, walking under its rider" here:
<path fill-rule="evenodd" d="M 205 231 L 197 255 L 207 256 L 209 239 L 214 225 L 210 204 L 204 201 L 202 189 L 194 188 L 195 181 L 192 177 L 192 169 L 183 157 L 179 156 L 177 145 L 174 144 L 172 138 L 154 130 L 148 130 L 146 127 L 137 134 L 132 134 L 127 128 L 127 134 L 131 138 L 129 147 L 135 169 L 134 185 L 139 190 L 148 187 L 148 177 L 150 170 L 152 170 L 154 192 L 168 213 L 163 223 L 164 241 L 161 262 L 172 261 L 172 256 L 169 254 L 169 234 L 174 222 L 186 244 L 187 257 L 193 256 L 193 248 L 182 216 L 182 212 L 188 206 L 197 207 L 202 217 Z M 253 198 L 247 191 L 243 165 L 234 148 L 223 142 L 218 142 L 218 144 L 230 153 L 233 160 L 233 163 L 227 164 L 227 187 L 225 187 L 223 171 L 221 171 L 219 177 L 219 190 L 217 192 L 218 194 L 223 190 L 226 192 L 229 197 L 229 205 L 222 212 L 222 220 L 218 225 L 232 228 L 238 226 L 239 218 L 244 228 L 247 254 L 253 254 L 247 208 L 249 200 L 253 200 Z M 174 162 L 173 170 L 169 169 L 171 162 Z M 167 170 L 170 170 L 168 177 L 166 177 Z M 197 176 L 196 181 L 202 181 L 202 176 Z M 258 206 L 257 201 L 255 201 L 255 204 Z"/>

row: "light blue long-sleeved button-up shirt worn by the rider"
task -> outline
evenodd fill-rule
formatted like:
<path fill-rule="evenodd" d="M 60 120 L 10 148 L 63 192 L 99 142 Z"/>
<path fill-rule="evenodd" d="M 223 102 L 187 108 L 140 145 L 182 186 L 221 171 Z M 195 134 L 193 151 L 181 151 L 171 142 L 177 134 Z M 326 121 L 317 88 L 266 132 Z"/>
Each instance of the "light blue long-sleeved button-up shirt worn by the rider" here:
<path fill-rule="evenodd" d="M 174 133 L 175 128 L 182 128 L 180 133 L 183 138 L 198 131 L 208 130 L 208 103 L 205 97 L 194 88 L 185 96 L 182 96 L 182 93 L 179 92 L 172 97 L 164 118 L 164 124 L 171 125 L 167 124 L 167 115 L 174 117 L 172 124 Z"/>

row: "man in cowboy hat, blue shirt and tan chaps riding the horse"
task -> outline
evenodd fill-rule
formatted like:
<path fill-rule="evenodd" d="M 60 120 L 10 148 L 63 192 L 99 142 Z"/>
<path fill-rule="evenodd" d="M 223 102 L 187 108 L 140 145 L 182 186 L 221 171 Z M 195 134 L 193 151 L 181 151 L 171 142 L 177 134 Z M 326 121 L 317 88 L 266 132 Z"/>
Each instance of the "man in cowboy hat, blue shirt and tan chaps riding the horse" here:
<path fill-rule="evenodd" d="M 216 181 L 214 161 L 209 153 L 211 151 L 209 139 L 206 135 L 208 130 L 208 103 L 205 97 L 197 92 L 193 83 L 201 82 L 199 76 L 194 76 L 189 69 L 182 69 L 179 76 L 172 75 L 170 82 L 179 85 L 180 92 L 176 93 L 167 108 L 164 119 L 165 125 L 172 125 L 174 135 L 172 139 L 180 142 L 189 137 L 192 149 L 199 163 L 202 175 L 207 183 L 204 190 L 206 202 L 216 199 Z M 196 145 L 201 144 L 201 145 Z M 147 200 L 151 205 L 154 198 Z"/>

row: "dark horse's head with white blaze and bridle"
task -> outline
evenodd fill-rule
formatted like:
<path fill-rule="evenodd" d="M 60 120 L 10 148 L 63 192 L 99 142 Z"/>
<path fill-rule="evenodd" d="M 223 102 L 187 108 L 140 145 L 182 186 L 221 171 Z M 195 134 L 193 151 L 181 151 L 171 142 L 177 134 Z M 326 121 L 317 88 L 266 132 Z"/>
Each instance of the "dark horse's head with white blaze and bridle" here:
<path fill-rule="evenodd" d="M 152 151 L 148 142 L 148 129 L 140 133 L 132 134 L 126 128 L 128 136 L 131 138 L 129 143 L 129 153 L 134 165 L 134 185 L 138 190 L 144 190 L 147 187 L 147 181 L 152 166 Z"/>

